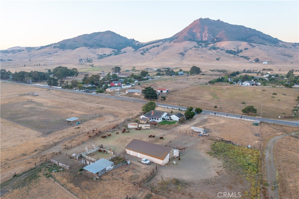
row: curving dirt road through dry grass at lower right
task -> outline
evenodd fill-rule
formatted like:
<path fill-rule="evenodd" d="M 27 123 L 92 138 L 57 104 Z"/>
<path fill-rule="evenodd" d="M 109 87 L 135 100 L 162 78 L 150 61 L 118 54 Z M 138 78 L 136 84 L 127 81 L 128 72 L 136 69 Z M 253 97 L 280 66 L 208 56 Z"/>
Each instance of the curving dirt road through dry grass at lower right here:
<path fill-rule="evenodd" d="M 266 163 L 266 172 L 267 172 L 267 181 L 269 183 L 268 186 L 268 194 L 269 198 L 279 198 L 278 196 L 278 187 L 277 187 L 277 178 L 276 178 L 276 167 L 274 164 L 274 156 L 273 156 L 273 147 L 277 140 L 280 138 L 294 135 L 295 133 L 288 133 L 283 135 L 278 135 L 276 137 L 272 137 L 268 143 L 265 150 L 265 163 Z"/>

